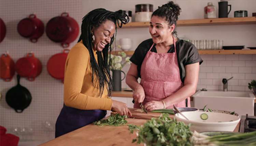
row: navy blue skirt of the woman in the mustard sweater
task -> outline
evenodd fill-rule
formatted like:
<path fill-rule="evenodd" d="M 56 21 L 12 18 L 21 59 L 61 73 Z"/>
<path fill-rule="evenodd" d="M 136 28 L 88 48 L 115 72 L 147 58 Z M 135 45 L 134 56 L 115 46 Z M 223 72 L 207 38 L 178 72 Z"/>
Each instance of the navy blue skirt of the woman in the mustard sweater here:
<path fill-rule="evenodd" d="M 105 110 L 80 110 L 65 106 L 55 125 L 55 138 L 104 118 Z"/>

